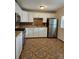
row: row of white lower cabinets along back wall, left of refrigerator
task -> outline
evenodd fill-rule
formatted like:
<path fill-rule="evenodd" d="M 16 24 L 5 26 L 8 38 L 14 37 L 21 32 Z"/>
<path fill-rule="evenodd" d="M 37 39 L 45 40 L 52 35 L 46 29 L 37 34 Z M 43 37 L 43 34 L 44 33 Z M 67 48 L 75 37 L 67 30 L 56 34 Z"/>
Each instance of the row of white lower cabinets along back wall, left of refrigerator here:
<path fill-rule="evenodd" d="M 26 28 L 26 38 L 47 37 L 47 28 Z"/>

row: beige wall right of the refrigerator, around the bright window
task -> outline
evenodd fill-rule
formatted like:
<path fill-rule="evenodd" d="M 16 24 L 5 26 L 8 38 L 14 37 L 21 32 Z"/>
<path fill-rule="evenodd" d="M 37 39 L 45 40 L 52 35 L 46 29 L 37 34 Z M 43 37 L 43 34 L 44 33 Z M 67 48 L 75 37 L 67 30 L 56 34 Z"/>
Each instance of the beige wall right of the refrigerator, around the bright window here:
<path fill-rule="evenodd" d="M 64 41 L 64 29 L 60 27 L 61 16 L 64 16 L 64 7 L 58 9 L 56 12 L 56 17 L 58 19 L 58 39 L 61 39 Z"/>

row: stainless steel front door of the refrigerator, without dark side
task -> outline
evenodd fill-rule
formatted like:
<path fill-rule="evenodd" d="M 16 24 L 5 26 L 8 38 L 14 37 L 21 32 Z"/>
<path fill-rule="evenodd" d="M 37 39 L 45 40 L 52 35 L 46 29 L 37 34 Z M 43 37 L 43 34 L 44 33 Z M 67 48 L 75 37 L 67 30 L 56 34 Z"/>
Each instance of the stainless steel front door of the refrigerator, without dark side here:
<path fill-rule="evenodd" d="M 49 19 L 49 37 L 56 37 L 57 33 L 57 20 Z"/>

